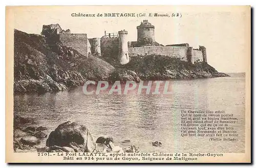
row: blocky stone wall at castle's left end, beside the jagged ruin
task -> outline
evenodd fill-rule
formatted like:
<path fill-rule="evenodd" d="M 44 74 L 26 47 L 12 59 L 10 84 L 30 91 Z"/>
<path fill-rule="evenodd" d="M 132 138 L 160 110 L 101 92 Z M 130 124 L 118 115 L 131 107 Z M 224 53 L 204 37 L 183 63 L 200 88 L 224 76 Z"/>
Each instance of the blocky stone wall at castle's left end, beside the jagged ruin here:
<path fill-rule="evenodd" d="M 88 48 L 91 45 L 90 43 L 88 44 L 87 34 L 59 34 L 59 41 L 88 58 Z"/>

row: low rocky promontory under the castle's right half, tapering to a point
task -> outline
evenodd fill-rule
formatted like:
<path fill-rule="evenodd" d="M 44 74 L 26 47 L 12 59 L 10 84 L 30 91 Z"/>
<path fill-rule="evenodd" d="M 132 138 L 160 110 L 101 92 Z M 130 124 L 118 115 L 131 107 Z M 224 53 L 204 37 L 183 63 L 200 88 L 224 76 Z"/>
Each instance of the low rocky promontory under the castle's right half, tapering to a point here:
<path fill-rule="evenodd" d="M 142 80 L 167 80 L 229 76 L 218 72 L 205 62 L 190 64 L 162 55 L 133 57 L 123 68 L 137 73 Z"/>

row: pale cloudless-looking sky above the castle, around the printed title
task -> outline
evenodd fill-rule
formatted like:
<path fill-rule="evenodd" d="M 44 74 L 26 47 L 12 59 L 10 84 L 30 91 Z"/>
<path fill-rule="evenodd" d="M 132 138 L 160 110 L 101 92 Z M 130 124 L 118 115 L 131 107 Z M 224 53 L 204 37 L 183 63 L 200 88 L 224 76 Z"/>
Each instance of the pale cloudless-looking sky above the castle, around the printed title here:
<path fill-rule="evenodd" d="M 128 31 L 129 41 L 137 40 L 136 26 L 143 19 L 155 25 L 155 40 L 163 45 L 189 43 L 207 49 L 208 64 L 219 72 L 245 72 L 248 58 L 250 15 L 244 7 L 33 7 L 14 12 L 14 28 L 40 34 L 43 24 L 60 24 L 71 33 L 102 37 Z M 72 17 L 72 13 L 145 13 L 146 17 Z M 149 17 L 149 13 L 181 13 L 182 17 Z M 247 21 L 247 24 L 246 24 Z M 247 47 L 247 48 L 246 48 Z M 247 54 L 246 54 L 247 51 Z"/>

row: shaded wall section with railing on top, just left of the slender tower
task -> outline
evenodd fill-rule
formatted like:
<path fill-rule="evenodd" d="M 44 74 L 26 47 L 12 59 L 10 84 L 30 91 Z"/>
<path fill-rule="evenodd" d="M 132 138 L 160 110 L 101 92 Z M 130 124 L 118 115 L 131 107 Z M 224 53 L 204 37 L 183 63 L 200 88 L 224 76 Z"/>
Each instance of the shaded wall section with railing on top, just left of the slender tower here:
<path fill-rule="evenodd" d="M 118 55 L 118 38 L 101 38 L 100 50 L 102 56 L 108 56 L 117 59 Z"/>

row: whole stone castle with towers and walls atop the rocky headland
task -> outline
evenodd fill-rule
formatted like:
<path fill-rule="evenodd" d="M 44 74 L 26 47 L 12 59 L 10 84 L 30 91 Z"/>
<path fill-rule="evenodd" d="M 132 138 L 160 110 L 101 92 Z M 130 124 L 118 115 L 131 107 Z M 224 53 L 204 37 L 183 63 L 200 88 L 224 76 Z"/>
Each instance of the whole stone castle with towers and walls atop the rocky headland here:
<path fill-rule="evenodd" d="M 191 64 L 207 63 L 204 46 L 194 49 L 187 43 L 166 46 L 157 43 L 155 26 L 148 20 L 143 20 L 137 26 L 137 41 L 128 41 L 128 32 L 125 30 L 118 33 L 105 32 L 101 38 L 88 39 L 87 34 L 72 34 L 70 30 L 62 30 L 59 24 L 43 25 L 41 35 L 46 37 L 46 42 L 61 42 L 65 46 L 76 49 L 85 57 L 89 57 L 89 54 L 112 57 L 122 65 L 129 63 L 132 57 L 152 54 L 177 58 Z"/>

